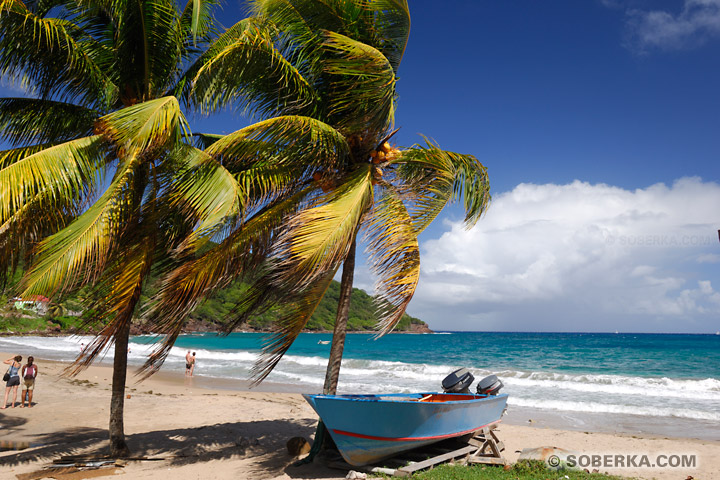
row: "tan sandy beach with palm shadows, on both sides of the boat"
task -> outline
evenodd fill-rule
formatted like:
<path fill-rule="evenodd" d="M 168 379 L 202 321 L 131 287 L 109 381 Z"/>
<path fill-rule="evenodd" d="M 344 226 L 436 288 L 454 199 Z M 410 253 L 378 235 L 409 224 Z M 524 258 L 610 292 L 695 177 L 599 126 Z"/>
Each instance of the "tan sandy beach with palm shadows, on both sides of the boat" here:
<path fill-rule="evenodd" d="M 11 353 L 0 353 L 8 358 Z M 62 378 L 62 363 L 37 358 L 40 375 L 33 408 L 0 411 L 0 478 L 28 476 L 63 455 L 105 454 L 111 369 L 93 366 L 77 378 Z M 317 417 L 297 393 L 280 386 L 218 384 L 180 371 L 161 371 L 135 384 L 129 376 L 125 433 L 133 456 L 108 474 L 127 478 L 342 479 L 347 472 L 311 464 L 295 467 L 287 453 L 291 437 L 312 439 Z M 4 394 L 4 389 L 3 389 Z M 19 395 L 18 395 L 19 398 Z M 638 478 L 720 479 L 720 442 L 565 431 L 502 424 L 505 457 L 523 448 L 555 446 L 584 455 L 695 455 L 695 468 L 601 469 Z M 18 477 L 19 475 L 19 477 Z M 85 477 L 83 477 L 85 478 Z"/>

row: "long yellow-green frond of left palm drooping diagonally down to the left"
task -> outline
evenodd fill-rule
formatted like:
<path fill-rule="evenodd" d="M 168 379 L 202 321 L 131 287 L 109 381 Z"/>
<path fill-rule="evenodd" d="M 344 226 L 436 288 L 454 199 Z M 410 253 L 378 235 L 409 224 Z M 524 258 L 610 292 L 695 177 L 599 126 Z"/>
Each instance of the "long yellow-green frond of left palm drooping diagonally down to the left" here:
<path fill-rule="evenodd" d="M 73 223 L 38 247 L 36 260 L 21 281 L 23 295 L 53 296 L 64 287 L 100 277 L 133 205 L 139 156 L 121 161 L 103 195 Z"/>

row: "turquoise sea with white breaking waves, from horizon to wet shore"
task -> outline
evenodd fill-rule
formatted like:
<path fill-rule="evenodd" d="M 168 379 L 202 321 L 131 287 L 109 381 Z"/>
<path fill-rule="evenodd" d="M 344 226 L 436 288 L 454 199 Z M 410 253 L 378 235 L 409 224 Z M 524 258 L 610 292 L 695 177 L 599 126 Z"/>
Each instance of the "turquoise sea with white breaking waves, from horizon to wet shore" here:
<path fill-rule="evenodd" d="M 265 338 L 183 335 L 163 370 L 182 372 L 184 355 L 193 350 L 196 375 L 246 380 Z M 267 382 L 320 391 L 330 346 L 319 342 L 330 339 L 302 334 Z M 131 340 L 131 365 L 144 361 L 152 340 Z M 0 351 L 69 361 L 83 341 L 0 337 Z M 343 358 L 339 393 L 436 391 L 450 371 L 467 367 L 478 380 L 491 373 L 501 378 L 516 421 L 720 440 L 720 335 L 350 334 Z"/>

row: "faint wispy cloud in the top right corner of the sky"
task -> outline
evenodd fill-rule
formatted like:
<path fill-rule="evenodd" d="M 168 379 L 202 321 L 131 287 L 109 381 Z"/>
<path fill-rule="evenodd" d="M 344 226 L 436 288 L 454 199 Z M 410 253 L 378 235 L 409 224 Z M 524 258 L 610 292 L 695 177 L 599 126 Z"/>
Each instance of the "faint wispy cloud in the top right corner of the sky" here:
<path fill-rule="evenodd" d="M 677 50 L 720 36 L 720 0 L 685 0 L 679 13 L 629 10 L 628 45 L 639 51 Z"/>

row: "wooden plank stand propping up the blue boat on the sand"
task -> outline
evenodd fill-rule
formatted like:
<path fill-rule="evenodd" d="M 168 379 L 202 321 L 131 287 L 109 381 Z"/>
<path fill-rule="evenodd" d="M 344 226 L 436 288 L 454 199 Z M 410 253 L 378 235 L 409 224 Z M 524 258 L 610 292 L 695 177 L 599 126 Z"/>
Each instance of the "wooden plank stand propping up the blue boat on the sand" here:
<path fill-rule="evenodd" d="M 505 445 L 495 435 L 495 425 L 479 430 L 472 438 L 452 439 L 403 452 L 396 457 L 384 460 L 382 466 L 366 465 L 353 467 L 344 461 L 333 461 L 328 467 L 339 470 L 360 470 L 368 473 L 383 473 L 394 477 L 408 477 L 426 468 L 433 468 L 442 463 L 455 465 L 472 465 L 477 463 L 489 465 L 506 465 L 502 452 Z M 395 465 L 396 468 L 390 467 Z"/>

